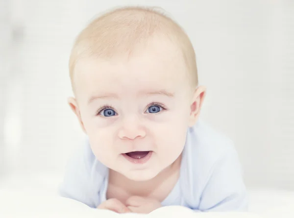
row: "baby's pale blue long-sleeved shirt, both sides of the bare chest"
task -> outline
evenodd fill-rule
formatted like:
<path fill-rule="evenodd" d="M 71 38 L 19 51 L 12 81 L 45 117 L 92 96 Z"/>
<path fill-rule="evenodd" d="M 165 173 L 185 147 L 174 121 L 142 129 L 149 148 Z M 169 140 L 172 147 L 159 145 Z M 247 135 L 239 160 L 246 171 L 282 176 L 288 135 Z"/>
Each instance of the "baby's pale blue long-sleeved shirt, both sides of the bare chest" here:
<path fill-rule="evenodd" d="M 106 200 L 108 169 L 89 142 L 69 162 L 60 194 L 96 208 Z M 231 140 L 198 121 L 187 131 L 180 177 L 163 206 L 181 205 L 195 211 L 246 211 L 246 188 Z"/>

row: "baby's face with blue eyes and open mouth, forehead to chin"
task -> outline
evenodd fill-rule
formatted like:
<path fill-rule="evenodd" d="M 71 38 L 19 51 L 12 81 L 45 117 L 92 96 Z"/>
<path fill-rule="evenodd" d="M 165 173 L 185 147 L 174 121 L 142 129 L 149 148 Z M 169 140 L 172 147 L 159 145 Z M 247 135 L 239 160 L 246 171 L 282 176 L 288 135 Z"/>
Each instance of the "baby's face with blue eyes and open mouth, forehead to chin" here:
<path fill-rule="evenodd" d="M 76 64 L 80 121 L 97 159 L 132 180 L 148 180 L 181 154 L 193 91 L 172 44 L 153 42 L 127 58 Z"/>

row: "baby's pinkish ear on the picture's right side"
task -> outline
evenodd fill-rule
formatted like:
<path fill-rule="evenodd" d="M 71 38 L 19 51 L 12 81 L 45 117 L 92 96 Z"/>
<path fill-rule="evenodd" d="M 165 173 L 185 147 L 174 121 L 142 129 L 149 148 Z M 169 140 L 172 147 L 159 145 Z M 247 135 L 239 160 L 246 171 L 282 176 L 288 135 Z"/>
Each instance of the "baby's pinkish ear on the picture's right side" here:
<path fill-rule="evenodd" d="M 200 109 L 202 107 L 205 95 L 206 95 L 206 88 L 204 86 L 199 86 L 195 90 L 194 96 L 192 98 L 192 103 L 191 103 L 189 127 L 192 127 L 198 120 Z"/>

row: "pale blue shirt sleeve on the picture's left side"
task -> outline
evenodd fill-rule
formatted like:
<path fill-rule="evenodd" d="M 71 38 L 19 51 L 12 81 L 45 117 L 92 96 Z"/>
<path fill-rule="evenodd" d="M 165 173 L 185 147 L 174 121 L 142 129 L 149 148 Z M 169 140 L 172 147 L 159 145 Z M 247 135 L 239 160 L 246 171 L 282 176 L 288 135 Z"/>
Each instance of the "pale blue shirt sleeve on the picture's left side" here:
<path fill-rule="evenodd" d="M 59 194 L 82 202 L 89 207 L 95 207 L 91 167 L 92 159 L 90 147 L 82 146 L 69 160 L 63 182 L 59 187 Z"/>

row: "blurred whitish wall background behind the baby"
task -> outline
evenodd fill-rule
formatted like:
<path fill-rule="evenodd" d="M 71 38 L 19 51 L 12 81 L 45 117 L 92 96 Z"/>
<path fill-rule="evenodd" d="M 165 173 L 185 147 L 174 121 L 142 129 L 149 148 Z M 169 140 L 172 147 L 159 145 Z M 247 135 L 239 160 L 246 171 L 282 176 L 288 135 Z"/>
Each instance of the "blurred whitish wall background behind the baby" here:
<path fill-rule="evenodd" d="M 234 140 L 246 184 L 294 189 L 293 0 L 0 2 L 0 169 L 62 172 L 83 137 L 67 105 L 73 40 L 101 11 L 139 4 L 163 7 L 188 32 L 208 88 L 202 119 Z"/>

